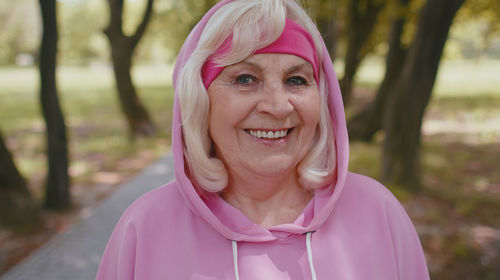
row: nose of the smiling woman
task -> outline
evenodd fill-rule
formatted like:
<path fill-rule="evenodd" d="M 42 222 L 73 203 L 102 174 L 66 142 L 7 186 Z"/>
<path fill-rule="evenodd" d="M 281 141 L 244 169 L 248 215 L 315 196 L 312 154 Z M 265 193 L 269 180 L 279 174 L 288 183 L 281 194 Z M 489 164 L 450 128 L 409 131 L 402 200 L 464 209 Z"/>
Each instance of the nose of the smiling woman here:
<path fill-rule="evenodd" d="M 277 119 L 282 119 L 294 110 L 290 102 L 290 96 L 283 85 L 265 86 L 261 96 L 262 99 L 257 105 L 259 113 L 269 114 Z"/>

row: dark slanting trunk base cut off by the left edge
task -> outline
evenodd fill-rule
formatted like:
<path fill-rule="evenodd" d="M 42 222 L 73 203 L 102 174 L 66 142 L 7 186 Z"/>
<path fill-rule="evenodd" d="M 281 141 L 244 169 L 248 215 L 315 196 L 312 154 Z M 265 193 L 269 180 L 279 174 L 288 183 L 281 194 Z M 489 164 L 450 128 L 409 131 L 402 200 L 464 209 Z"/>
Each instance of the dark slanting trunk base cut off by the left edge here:
<path fill-rule="evenodd" d="M 0 224 L 15 228 L 36 225 L 39 210 L 0 132 Z"/>

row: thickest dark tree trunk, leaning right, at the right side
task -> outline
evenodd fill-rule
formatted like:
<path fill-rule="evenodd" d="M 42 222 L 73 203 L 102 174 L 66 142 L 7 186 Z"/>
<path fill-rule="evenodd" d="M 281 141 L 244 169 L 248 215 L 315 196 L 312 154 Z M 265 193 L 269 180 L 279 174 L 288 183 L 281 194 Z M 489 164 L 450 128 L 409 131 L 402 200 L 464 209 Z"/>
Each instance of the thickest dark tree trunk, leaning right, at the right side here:
<path fill-rule="evenodd" d="M 391 90 L 383 118 L 384 180 L 418 191 L 422 118 L 453 18 L 464 0 L 427 0 L 401 76 Z"/>

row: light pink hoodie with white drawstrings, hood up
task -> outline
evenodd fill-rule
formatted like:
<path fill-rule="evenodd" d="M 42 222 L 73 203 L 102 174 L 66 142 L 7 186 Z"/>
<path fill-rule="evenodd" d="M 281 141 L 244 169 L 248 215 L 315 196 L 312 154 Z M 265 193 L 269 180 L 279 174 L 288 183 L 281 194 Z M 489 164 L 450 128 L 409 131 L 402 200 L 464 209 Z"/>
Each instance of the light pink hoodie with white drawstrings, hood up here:
<path fill-rule="evenodd" d="M 193 29 L 179 54 L 174 81 L 210 16 L 231 1 L 219 2 Z M 294 223 L 266 229 L 217 194 L 198 195 L 184 170 L 175 98 L 175 181 L 127 209 L 96 279 L 429 279 L 417 233 L 403 207 L 378 182 L 347 171 L 344 109 L 324 45 L 321 61 L 337 144 L 336 176 L 315 191 Z"/>

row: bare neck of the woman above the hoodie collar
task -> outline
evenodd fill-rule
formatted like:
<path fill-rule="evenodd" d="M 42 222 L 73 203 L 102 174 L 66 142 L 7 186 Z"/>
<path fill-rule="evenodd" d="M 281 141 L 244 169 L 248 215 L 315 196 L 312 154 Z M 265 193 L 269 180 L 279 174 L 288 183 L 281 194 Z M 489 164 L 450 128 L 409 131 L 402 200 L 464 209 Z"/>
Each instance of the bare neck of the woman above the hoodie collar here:
<path fill-rule="evenodd" d="M 221 196 L 250 220 L 263 227 L 293 223 L 312 198 L 304 190 L 296 174 L 288 178 L 238 180 L 230 184 Z"/>

